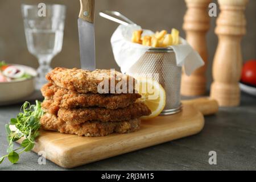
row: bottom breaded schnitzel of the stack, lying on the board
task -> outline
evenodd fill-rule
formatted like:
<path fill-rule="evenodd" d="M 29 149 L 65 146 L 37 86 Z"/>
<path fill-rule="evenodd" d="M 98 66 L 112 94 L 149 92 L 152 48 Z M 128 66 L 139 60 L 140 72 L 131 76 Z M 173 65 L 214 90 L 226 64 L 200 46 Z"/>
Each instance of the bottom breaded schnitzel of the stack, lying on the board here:
<path fill-rule="evenodd" d="M 80 125 L 70 125 L 53 114 L 44 114 L 40 119 L 44 130 L 59 131 L 60 133 L 77 134 L 85 137 L 100 137 L 111 133 L 130 133 L 140 127 L 140 119 L 122 122 L 88 121 Z"/>

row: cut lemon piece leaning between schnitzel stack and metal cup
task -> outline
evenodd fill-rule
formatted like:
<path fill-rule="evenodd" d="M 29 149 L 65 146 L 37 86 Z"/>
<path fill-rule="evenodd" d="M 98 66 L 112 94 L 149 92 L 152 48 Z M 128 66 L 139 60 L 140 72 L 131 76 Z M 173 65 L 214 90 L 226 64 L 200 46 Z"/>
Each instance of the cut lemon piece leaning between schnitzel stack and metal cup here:
<path fill-rule="evenodd" d="M 152 78 L 137 78 L 137 90 L 141 94 L 139 101 L 142 101 L 151 110 L 150 115 L 141 117 L 141 119 L 151 119 L 157 117 L 166 106 L 166 92 L 158 81 Z"/>

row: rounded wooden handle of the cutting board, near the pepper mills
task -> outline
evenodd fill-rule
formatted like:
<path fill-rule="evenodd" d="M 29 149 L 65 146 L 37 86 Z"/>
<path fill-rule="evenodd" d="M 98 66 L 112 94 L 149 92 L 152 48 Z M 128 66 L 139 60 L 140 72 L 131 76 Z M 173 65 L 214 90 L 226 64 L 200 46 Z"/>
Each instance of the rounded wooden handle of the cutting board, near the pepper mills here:
<path fill-rule="evenodd" d="M 218 102 L 209 97 L 201 97 L 192 100 L 183 100 L 184 105 L 193 105 L 203 115 L 215 114 L 218 111 Z"/>

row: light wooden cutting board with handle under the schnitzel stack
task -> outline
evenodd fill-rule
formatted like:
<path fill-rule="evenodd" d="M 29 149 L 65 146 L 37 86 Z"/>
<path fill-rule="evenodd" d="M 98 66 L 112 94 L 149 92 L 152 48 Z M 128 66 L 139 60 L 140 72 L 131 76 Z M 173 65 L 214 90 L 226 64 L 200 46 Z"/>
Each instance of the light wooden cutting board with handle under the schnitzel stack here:
<path fill-rule="evenodd" d="M 183 111 L 180 113 L 142 121 L 141 129 L 134 133 L 111 134 L 106 137 L 78 137 L 41 131 L 33 151 L 36 153 L 44 151 L 46 158 L 53 163 L 63 168 L 73 168 L 197 134 L 204 127 L 203 114 L 213 114 L 217 110 L 216 101 L 200 98 L 183 101 Z"/>

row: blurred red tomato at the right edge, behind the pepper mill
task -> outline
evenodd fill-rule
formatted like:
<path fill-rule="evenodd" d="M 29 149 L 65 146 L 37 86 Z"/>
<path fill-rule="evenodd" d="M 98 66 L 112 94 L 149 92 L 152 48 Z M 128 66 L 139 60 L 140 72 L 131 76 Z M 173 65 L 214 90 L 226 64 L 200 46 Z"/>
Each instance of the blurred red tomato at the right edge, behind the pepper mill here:
<path fill-rule="evenodd" d="M 242 82 L 256 86 L 256 60 L 249 60 L 243 65 Z"/>

